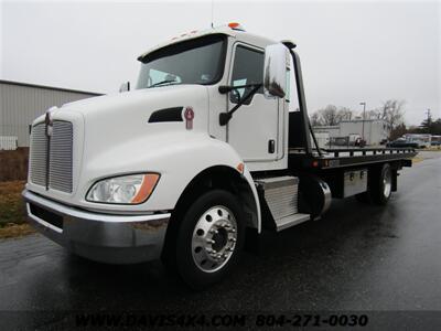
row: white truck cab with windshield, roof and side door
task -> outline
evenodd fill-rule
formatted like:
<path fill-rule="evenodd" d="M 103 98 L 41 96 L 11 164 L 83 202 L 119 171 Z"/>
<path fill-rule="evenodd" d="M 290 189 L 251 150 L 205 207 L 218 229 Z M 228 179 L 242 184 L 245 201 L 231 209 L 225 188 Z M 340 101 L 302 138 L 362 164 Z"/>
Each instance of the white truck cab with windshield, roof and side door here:
<path fill-rule="evenodd" d="M 203 119 L 197 125 L 201 122 L 211 137 L 232 146 L 250 171 L 286 169 L 287 98 L 265 95 L 261 86 L 235 113 L 234 120 L 227 125 L 215 120 L 235 107 L 252 84 L 262 84 L 265 47 L 275 43 L 239 26 L 189 33 L 139 56 L 142 64 L 137 89 L 204 86 L 207 106 L 204 114 L 195 113 L 194 120 Z M 287 79 L 289 71 L 287 56 Z M 219 93 L 219 86 L 246 87 Z"/>

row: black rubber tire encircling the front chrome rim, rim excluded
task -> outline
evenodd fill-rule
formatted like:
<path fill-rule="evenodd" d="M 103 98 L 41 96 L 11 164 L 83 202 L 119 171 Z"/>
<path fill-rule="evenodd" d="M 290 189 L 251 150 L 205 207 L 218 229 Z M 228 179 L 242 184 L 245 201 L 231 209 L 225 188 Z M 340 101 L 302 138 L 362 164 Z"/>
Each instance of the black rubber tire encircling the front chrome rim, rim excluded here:
<path fill-rule="evenodd" d="M 203 220 L 202 216 L 217 206 L 225 207 L 233 214 L 236 222 L 236 242 L 234 248 L 230 247 L 233 250 L 229 258 L 225 259 L 225 264 L 218 270 L 212 270 L 208 273 L 202 269 L 203 266 L 201 263 L 200 265 L 196 264 L 194 257 L 195 254 L 193 253 L 196 252 L 196 249 L 193 249 L 192 243 L 194 243 L 193 237 L 196 231 L 196 224 L 201 224 L 200 222 Z M 237 197 L 224 190 L 213 190 L 203 193 L 193 204 L 190 205 L 180 221 L 181 224 L 176 235 L 175 245 L 175 264 L 176 271 L 182 280 L 195 290 L 205 289 L 208 286 L 220 281 L 237 264 L 244 246 L 244 212 Z M 226 241 L 228 243 L 228 234 Z M 212 248 L 213 247 L 214 244 L 212 245 Z M 203 250 L 203 254 L 206 254 L 206 250 Z M 209 259 L 208 263 L 212 263 L 212 260 Z M 215 263 L 213 264 L 215 265 Z"/>

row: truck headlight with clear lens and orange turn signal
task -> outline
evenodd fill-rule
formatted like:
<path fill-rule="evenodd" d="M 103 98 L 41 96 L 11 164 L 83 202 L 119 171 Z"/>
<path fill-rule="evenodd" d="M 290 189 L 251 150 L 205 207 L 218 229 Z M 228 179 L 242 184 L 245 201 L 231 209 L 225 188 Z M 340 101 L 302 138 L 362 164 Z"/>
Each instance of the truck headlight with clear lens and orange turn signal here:
<path fill-rule="evenodd" d="M 159 177 L 158 173 L 146 173 L 100 180 L 90 188 L 86 200 L 104 203 L 142 203 L 153 192 Z"/>

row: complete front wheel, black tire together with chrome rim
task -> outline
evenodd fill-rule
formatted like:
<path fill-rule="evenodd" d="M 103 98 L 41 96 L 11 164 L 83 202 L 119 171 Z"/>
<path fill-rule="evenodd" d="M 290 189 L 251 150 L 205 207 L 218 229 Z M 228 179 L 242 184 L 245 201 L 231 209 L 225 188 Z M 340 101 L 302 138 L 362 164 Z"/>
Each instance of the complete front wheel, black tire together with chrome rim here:
<path fill-rule="evenodd" d="M 235 195 L 214 190 L 202 194 L 181 220 L 176 238 L 176 267 L 193 289 L 224 278 L 237 264 L 245 227 Z"/>

